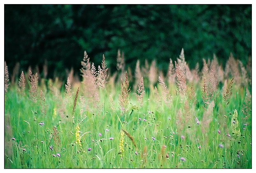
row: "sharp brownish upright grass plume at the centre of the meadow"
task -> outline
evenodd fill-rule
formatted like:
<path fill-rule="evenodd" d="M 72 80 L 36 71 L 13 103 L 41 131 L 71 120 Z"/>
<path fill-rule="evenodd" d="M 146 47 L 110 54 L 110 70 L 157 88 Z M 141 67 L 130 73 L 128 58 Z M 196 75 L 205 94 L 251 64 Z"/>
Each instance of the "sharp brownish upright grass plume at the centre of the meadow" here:
<path fill-rule="evenodd" d="M 124 114 L 127 111 L 128 106 L 128 96 L 130 93 L 129 80 L 126 72 L 126 80 L 123 83 L 123 79 L 121 78 L 121 94 L 119 94 L 119 105 L 121 106 L 121 112 Z"/>

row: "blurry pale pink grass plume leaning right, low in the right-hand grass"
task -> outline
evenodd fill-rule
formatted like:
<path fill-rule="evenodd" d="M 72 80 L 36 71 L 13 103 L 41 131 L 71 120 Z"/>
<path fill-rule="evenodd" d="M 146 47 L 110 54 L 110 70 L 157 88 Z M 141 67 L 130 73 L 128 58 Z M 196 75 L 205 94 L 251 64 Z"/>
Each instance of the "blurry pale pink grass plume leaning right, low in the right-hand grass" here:
<path fill-rule="evenodd" d="M 203 116 L 202 116 L 202 132 L 205 133 L 207 129 L 209 129 L 209 124 L 211 123 L 212 121 L 212 114 L 213 114 L 213 108 L 214 108 L 215 104 L 214 104 L 214 101 L 212 101 L 206 111 L 204 112 Z"/>

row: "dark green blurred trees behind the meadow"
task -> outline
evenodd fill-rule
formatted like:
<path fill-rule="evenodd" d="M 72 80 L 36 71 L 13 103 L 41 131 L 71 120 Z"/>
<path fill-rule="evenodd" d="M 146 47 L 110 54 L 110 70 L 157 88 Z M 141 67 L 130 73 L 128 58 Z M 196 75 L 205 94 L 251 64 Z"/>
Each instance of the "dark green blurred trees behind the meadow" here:
<path fill-rule="evenodd" d="M 213 54 L 223 66 L 230 52 L 244 64 L 251 55 L 251 5 L 5 5 L 4 27 L 10 74 L 19 62 L 20 72 L 43 76 L 47 64 L 47 78 L 80 76 L 84 50 L 96 66 L 104 54 L 111 73 L 118 49 L 126 68 L 156 59 L 165 73 L 182 48 L 190 68 Z"/>

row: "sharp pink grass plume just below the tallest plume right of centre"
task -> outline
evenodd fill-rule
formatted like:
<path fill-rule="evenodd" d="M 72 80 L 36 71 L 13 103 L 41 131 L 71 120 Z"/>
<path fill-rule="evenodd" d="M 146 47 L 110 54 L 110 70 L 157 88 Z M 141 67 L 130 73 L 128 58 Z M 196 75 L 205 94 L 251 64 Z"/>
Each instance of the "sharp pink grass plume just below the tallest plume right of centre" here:
<path fill-rule="evenodd" d="M 178 92 L 186 96 L 187 86 L 186 86 L 185 68 L 181 70 L 179 65 L 175 61 L 175 71 L 176 71 L 176 78 L 177 78 L 176 86 L 177 86 Z"/>

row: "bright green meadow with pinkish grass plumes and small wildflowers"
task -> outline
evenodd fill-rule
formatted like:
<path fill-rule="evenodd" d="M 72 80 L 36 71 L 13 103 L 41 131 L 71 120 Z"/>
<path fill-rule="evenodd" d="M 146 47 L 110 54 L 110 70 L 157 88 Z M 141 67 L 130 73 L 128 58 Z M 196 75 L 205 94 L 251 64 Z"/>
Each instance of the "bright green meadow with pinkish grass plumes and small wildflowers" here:
<path fill-rule="evenodd" d="M 5 63 L 5 168 L 251 168 L 251 59 L 202 61 L 132 73 L 118 51 L 110 74 L 84 52 L 82 82 Z"/>

